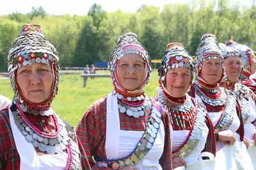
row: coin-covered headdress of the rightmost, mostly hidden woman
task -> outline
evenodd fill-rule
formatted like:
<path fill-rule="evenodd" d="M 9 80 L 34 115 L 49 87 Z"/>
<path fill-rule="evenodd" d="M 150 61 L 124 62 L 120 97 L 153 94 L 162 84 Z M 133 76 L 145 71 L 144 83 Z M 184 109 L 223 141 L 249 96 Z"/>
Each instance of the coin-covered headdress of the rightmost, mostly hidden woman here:
<path fill-rule="evenodd" d="M 246 46 L 246 45 L 241 45 L 239 43 L 236 43 L 233 40 L 230 40 L 226 43 L 227 46 L 230 46 L 232 48 L 234 48 L 235 50 L 237 50 L 240 55 L 242 56 L 242 60 L 243 60 L 243 71 L 249 72 L 249 73 L 253 73 L 253 69 L 255 68 L 251 68 L 251 62 L 254 62 L 254 60 L 252 60 L 251 55 L 254 55 L 252 48 Z"/>

